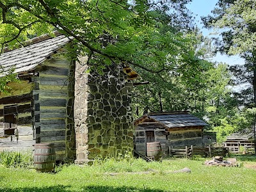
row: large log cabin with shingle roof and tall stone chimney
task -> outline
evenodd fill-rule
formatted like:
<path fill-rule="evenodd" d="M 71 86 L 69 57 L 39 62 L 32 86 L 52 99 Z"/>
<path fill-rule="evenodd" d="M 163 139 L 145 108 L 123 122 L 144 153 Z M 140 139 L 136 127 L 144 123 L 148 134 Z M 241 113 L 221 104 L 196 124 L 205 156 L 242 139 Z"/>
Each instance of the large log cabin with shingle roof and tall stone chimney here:
<path fill-rule="evenodd" d="M 131 67 L 88 71 L 87 57 L 70 58 L 72 38 L 40 36 L 0 55 L 21 83 L 0 95 L 0 150 L 31 151 L 54 143 L 57 161 L 86 163 L 133 149 Z"/>

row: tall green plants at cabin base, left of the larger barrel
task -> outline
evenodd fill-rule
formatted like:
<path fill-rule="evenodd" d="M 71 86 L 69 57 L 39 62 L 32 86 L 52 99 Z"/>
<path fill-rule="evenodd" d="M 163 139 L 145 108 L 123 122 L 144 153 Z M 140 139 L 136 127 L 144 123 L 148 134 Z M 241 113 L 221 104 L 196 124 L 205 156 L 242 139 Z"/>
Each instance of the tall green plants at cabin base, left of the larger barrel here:
<path fill-rule="evenodd" d="M 33 167 L 33 157 L 29 153 L 20 152 L 0 152 L 0 164 L 6 167 L 31 168 Z"/>

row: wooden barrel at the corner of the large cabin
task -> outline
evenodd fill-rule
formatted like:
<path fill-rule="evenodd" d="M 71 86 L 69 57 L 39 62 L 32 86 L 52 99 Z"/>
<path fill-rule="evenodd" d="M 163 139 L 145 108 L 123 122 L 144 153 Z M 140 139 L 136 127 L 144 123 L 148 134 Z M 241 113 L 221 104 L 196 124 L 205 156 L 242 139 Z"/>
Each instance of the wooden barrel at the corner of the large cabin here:
<path fill-rule="evenodd" d="M 54 143 L 36 143 L 34 166 L 39 172 L 54 172 L 56 154 Z"/>

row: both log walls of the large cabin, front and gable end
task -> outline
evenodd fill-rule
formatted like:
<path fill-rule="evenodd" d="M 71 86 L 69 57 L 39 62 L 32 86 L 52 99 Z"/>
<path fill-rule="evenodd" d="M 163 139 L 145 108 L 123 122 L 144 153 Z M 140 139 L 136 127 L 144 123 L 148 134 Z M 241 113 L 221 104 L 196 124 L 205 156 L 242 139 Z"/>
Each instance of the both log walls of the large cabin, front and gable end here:
<path fill-rule="evenodd" d="M 24 76 L 28 80 L 16 83 L 19 89 L 15 92 L 17 95 L 4 95 L 0 99 L 0 150 L 31 151 L 35 143 L 54 143 L 57 161 L 76 157 L 75 65 L 63 56 L 63 52 L 65 49 L 59 50 L 43 65 L 38 65 L 31 76 Z M 25 93 L 20 86 L 24 87 Z M 6 129 L 8 124 L 15 125 L 10 124 L 4 114 L 12 106 L 17 120 L 14 132 Z"/>

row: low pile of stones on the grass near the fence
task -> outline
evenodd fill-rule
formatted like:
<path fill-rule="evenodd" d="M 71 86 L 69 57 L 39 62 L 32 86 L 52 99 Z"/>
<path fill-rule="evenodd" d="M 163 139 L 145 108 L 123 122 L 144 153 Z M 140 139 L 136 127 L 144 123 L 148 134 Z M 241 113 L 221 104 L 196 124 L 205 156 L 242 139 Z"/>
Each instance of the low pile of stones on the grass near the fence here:
<path fill-rule="evenodd" d="M 222 156 L 212 157 L 211 160 L 205 161 L 204 164 L 207 166 L 237 166 L 236 158 L 223 160 Z"/>

